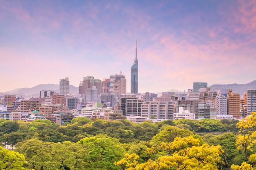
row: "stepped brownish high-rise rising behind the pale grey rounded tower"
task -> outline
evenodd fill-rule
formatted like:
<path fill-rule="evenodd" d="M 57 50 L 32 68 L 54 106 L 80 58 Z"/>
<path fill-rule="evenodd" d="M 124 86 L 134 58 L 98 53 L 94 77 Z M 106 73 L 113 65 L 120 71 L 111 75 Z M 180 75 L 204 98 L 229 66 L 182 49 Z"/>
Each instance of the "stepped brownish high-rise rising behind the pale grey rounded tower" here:
<path fill-rule="evenodd" d="M 87 88 L 96 87 L 98 90 L 98 95 L 102 93 L 101 80 L 94 79 L 93 76 L 87 76 L 83 78 L 83 92 L 86 93 Z"/>

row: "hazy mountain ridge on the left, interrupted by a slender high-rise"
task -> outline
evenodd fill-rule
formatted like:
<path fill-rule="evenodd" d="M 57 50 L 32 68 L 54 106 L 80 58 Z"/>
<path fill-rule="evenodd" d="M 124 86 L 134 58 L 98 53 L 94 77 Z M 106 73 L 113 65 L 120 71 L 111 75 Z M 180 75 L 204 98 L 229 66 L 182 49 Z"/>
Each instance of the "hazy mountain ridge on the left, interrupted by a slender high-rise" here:
<path fill-rule="evenodd" d="M 3 96 L 4 94 L 15 94 L 18 95 L 20 92 L 24 93 L 26 95 L 26 98 L 30 98 L 31 94 L 33 97 L 37 97 L 40 94 L 41 90 L 54 90 L 55 92 L 60 92 L 60 86 L 59 84 L 39 84 L 37 86 L 34 86 L 32 88 L 16 88 L 14 90 L 1 92 L 0 96 Z M 79 93 L 79 87 L 75 87 L 73 85 L 69 85 L 69 93 L 76 95 Z"/>

